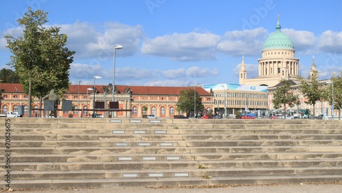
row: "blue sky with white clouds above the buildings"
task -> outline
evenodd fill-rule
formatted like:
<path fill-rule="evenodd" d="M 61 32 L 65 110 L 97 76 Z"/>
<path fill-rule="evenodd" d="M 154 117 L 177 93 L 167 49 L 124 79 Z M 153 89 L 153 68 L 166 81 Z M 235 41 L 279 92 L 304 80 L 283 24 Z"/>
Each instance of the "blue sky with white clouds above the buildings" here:
<path fill-rule="evenodd" d="M 49 23 L 68 35 L 76 51 L 70 81 L 112 82 L 114 45 L 116 84 L 191 86 L 239 83 L 244 55 L 248 78 L 257 77 L 263 42 L 282 31 L 300 58 L 307 77 L 313 55 L 319 79 L 342 70 L 342 1 L 203 1 L 203 0 L 1 0 L 0 68 L 10 62 L 3 36 L 20 36 L 16 20 L 27 8 L 49 12 Z"/>

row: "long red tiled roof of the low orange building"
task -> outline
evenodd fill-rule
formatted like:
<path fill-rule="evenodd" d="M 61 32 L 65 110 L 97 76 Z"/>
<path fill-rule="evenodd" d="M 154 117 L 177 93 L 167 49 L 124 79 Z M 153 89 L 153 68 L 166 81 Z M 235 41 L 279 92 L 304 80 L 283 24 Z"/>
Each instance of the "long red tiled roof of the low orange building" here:
<path fill-rule="evenodd" d="M 106 85 L 107 87 L 107 85 Z M 132 94 L 138 95 L 179 95 L 181 90 L 186 89 L 194 89 L 194 86 L 124 86 L 124 85 L 117 85 L 116 88 L 123 93 L 124 90 L 129 87 L 132 91 Z M 21 83 L 0 83 L 0 88 L 3 89 L 3 92 L 23 92 L 23 86 Z M 15 90 L 17 88 L 17 90 Z M 78 85 L 73 84 L 69 86 L 68 94 L 78 94 L 78 93 L 87 93 L 87 89 L 92 88 L 92 85 Z M 103 93 L 103 85 L 96 85 L 96 89 L 98 92 Z M 91 93 L 92 90 L 89 90 L 88 93 Z M 209 92 L 204 90 L 201 87 L 196 87 L 196 92 L 201 96 L 211 96 Z"/>

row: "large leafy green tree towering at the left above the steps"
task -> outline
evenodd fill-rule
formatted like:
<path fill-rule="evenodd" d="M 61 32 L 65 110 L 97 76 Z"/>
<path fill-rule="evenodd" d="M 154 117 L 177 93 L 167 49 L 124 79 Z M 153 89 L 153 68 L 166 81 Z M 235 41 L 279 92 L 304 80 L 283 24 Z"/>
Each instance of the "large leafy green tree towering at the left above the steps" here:
<path fill-rule="evenodd" d="M 75 54 L 65 47 L 67 36 L 59 34 L 60 27 L 43 26 L 48 22 L 47 14 L 28 8 L 28 13 L 18 19 L 18 24 L 25 26 L 23 36 L 5 36 L 7 47 L 13 53 L 8 65 L 16 69 L 24 92 L 29 95 L 29 116 L 32 96 L 40 97 L 42 103 L 42 96 L 51 88 L 57 92 L 68 89 L 69 69 Z"/>

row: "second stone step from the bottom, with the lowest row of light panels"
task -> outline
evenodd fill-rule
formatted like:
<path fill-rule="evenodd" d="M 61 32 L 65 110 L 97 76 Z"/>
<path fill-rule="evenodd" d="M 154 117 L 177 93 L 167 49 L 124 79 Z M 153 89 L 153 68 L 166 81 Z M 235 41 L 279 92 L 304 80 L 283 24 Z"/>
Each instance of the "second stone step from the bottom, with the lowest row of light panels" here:
<path fill-rule="evenodd" d="M 296 168 L 192 168 L 170 170 L 23 170 L 12 171 L 13 180 L 31 179 L 122 179 L 172 177 L 244 177 L 282 175 L 339 175 L 342 167 Z"/>

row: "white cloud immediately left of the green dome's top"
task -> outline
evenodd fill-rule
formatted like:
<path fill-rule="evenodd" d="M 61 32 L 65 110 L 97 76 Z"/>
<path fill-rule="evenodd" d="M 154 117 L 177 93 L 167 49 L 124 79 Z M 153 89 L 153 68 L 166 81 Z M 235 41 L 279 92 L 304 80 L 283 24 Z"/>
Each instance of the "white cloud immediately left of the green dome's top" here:
<path fill-rule="evenodd" d="M 227 31 L 218 44 L 218 51 L 232 56 L 260 55 L 267 30 L 262 27 L 242 31 Z"/>

